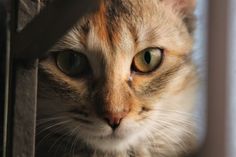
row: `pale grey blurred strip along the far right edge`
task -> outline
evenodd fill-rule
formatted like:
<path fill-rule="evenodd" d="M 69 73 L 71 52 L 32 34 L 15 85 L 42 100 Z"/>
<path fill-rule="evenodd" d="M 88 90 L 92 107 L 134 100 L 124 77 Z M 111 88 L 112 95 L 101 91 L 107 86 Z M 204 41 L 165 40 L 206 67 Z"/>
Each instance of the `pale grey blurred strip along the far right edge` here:
<path fill-rule="evenodd" d="M 228 54 L 228 89 L 229 89 L 229 157 L 236 156 L 236 1 L 231 0 L 228 9 L 229 18 L 229 54 Z"/>

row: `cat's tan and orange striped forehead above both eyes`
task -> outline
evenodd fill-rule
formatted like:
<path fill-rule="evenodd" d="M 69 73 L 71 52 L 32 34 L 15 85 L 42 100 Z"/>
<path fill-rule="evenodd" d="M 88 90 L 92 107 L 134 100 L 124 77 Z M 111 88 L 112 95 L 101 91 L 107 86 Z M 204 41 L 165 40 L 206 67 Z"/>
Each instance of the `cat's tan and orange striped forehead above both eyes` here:
<path fill-rule="evenodd" d="M 191 41 L 181 17 L 159 0 L 106 0 L 58 45 L 109 56 L 117 49 L 136 53 L 147 47 L 186 53 Z"/>

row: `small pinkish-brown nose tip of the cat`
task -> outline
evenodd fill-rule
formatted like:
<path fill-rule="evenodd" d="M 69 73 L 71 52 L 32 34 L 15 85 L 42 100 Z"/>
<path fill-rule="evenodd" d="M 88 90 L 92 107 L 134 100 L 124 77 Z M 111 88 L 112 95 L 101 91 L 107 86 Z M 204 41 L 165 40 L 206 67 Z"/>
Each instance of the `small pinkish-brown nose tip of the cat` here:
<path fill-rule="evenodd" d="M 107 124 L 115 130 L 119 127 L 122 119 L 128 114 L 128 112 L 120 112 L 120 113 L 107 113 L 104 117 Z"/>

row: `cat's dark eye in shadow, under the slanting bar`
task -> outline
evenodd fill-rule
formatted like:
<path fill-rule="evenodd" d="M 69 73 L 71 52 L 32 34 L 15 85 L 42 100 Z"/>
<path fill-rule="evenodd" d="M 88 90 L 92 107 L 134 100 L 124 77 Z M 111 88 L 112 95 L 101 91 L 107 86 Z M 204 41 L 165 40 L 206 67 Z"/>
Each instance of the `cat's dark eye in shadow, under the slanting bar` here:
<path fill-rule="evenodd" d="M 87 57 L 72 50 L 59 52 L 56 57 L 56 64 L 63 73 L 70 76 L 82 74 L 89 67 Z"/>

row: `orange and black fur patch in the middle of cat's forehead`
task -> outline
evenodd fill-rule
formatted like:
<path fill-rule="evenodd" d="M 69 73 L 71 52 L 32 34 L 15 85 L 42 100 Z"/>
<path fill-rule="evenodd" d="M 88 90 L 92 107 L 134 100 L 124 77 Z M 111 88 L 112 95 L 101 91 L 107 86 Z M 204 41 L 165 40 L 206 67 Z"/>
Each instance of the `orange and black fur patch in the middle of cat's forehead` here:
<path fill-rule="evenodd" d="M 114 49 L 121 40 L 123 24 L 128 25 L 134 16 L 136 15 L 129 1 L 107 0 L 101 2 L 91 23 L 97 29 L 99 38 Z"/>

